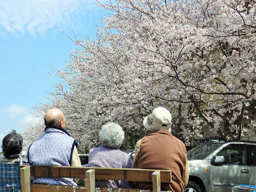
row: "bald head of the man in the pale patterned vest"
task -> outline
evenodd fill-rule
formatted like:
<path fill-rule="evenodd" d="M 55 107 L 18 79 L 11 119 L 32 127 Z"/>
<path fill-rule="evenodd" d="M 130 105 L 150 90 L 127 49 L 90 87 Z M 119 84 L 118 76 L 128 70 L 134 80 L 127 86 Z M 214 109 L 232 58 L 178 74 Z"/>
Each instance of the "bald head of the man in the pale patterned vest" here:
<path fill-rule="evenodd" d="M 60 109 L 53 108 L 47 111 L 44 116 L 45 126 L 59 126 L 61 120 L 64 118 L 64 115 Z"/>

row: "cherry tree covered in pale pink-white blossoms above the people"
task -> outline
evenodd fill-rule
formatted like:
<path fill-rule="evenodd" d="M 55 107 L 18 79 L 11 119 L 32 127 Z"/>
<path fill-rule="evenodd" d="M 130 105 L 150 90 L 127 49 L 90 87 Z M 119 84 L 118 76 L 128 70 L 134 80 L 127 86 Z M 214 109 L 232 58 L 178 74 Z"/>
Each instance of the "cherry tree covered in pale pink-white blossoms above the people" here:
<path fill-rule="evenodd" d="M 172 134 L 187 145 L 203 128 L 240 140 L 255 135 L 255 0 L 115 0 L 97 38 L 72 39 L 70 62 L 52 75 L 53 106 L 83 148 L 98 145 L 108 121 L 134 145 L 157 106 L 173 116 Z M 38 111 L 45 111 L 43 104 Z M 246 121 L 246 126 L 245 122 Z M 221 128 L 225 124 L 225 130 Z"/>

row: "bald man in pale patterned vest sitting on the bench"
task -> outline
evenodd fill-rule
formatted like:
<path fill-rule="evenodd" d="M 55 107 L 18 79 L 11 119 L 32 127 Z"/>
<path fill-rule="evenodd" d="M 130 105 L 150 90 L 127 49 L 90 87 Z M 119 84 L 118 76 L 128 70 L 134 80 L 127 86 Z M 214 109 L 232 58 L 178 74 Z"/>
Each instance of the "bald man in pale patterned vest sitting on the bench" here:
<path fill-rule="evenodd" d="M 29 164 L 35 166 L 78 166 L 78 143 L 65 128 L 65 117 L 61 110 L 50 109 L 44 116 L 44 134 L 28 149 Z M 33 183 L 49 185 L 85 185 L 85 179 L 35 177 Z"/>

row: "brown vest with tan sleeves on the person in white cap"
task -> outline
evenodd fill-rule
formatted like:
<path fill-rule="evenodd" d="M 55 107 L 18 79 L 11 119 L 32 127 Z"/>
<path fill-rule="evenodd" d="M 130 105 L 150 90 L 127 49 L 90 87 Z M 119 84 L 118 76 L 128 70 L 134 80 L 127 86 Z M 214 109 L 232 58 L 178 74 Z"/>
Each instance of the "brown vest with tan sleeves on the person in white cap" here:
<path fill-rule="evenodd" d="M 172 170 L 172 183 L 161 183 L 161 190 L 183 192 L 188 179 L 188 167 L 186 148 L 182 141 L 169 131 L 155 130 L 142 138 L 135 155 L 138 157 L 134 157 L 133 168 Z M 136 182 L 135 185 L 137 189 L 152 189 L 152 183 Z"/>

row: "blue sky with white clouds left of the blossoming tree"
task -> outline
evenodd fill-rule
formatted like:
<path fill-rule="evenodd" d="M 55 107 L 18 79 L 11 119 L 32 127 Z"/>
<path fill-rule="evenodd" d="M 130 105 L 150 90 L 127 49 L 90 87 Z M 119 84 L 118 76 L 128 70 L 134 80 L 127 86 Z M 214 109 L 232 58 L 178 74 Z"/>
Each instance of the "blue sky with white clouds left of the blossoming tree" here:
<path fill-rule="evenodd" d="M 107 0 L 101 0 L 107 1 Z M 96 36 L 108 12 L 94 0 L 5 0 L 0 3 L 0 141 L 12 129 L 38 121 L 32 106 L 49 102 L 75 34 Z M 64 35 L 63 32 L 66 34 Z"/>

